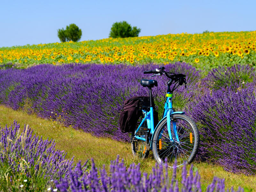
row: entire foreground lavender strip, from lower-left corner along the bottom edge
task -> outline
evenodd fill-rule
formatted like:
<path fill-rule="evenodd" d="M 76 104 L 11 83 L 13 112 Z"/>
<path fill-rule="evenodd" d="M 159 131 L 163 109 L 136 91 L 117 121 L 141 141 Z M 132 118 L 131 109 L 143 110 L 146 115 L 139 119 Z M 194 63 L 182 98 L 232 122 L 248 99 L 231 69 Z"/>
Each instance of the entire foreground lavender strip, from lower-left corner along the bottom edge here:
<path fill-rule="evenodd" d="M 20 132 L 20 125 L 14 122 L 9 128 L 0 127 L 0 133 L 0 173 L 5 175 L 0 177 L 1 191 L 202 191 L 200 175 L 193 172 L 193 166 L 189 172 L 183 167 L 181 183 L 176 164 L 171 178 L 167 164 L 156 164 L 148 175 L 140 171 L 139 164 L 126 167 L 119 157 L 111 161 L 109 173 L 105 166 L 98 171 L 93 159 L 89 170 L 88 161 L 73 167 L 64 151 L 55 150 L 54 141 L 32 135 L 28 126 Z M 213 178 L 206 191 L 214 190 L 225 191 L 224 179 Z M 244 189 L 239 187 L 240 191 Z"/>

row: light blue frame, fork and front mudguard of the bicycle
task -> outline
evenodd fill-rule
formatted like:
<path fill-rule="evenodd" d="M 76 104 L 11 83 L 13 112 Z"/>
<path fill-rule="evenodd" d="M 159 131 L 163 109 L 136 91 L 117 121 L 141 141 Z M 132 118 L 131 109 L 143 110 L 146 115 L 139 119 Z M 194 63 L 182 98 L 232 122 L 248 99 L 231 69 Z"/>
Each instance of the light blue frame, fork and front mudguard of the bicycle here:
<path fill-rule="evenodd" d="M 151 138 L 153 138 L 154 132 L 156 130 L 156 127 L 165 119 L 167 118 L 167 130 L 169 133 L 169 138 L 171 141 L 173 141 L 172 139 L 172 133 L 171 133 L 171 114 L 185 114 L 185 112 L 182 111 L 173 111 L 172 109 L 172 94 L 170 94 L 170 92 L 168 92 L 166 94 L 166 102 L 164 105 L 164 115 L 161 121 L 159 121 L 159 123 L 156 125 L 156 127 L 154 127 L 154 117 L 153 117 L 153 107 L 150 107 L 150 111 L 146 111 L 142 109 L 142 112 L 145 114 L 145 117 L 143 118 L 143 120 L 141 121 L 140 125 L 138 126 L 137 130 L 135 131 L 135 138 L 139 139 L 139 140 L 143 140 L 146 141 L 146 138 L 140 137 L 138 135 L 136 135 L 136 133 L 140 130 L 141 125 L 145 122 L 145 120 L 147 120 L 147 125 L 148 125 L 148 129 L 150 129 L 150 133 L 152 135 Z M 176 122 L 172 121 L 172 127 L 173 127 L 173 132 L 174 135 L 176 137 L 176 140 L 178 142 L 180 142 L 179 140 L 179 136 L 177 133 L 177 129 L 176 129 Z M 161 134 L 160 134 L 161 135 Z M 151 138 L 150 139 L 150 148 L 152 149 L 152 142 L 151 142 Z M 161 138 L 161 136 L 160 136 Z M 159 138 L 159 139 L 160 139 Z"/>

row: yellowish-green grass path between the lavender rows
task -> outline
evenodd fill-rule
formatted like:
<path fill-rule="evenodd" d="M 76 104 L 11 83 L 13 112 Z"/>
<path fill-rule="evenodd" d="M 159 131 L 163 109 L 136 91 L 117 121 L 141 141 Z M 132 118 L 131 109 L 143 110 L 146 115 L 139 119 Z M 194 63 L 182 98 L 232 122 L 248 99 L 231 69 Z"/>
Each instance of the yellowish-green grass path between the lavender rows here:
<path fill-rule="evenodd" d="M 0 124 L 1 126 L 11 126 L 12 122 L 16 120 L 21 128 L 24 124 L 28 124 L 39 136 L 44 139 L 54 139 L 56 148 L 65 150 L 67 158 L 75 156 L 75 163 L 79 160 L 84 163 L 87 159 L 93 158 L 97 167 L 102 167 L 103 164 L 110 164 L 110 160 L 116 159 L 117 155 L 124 159 L 124 163 L 128 166 L 131 163 L 140 163 L 142 172 L 151 172 L 152 166 L 156 161 L 150 153 L 148 159 L 140 160 L 132 156 L 131 144 L 114 141 L 108 138 L 97 138 L 91 134 L 85 133 L 81 130 L 75 130 L 72 127 L 64 127 L 60 123 L 53 123 L 47 119 L 42 119 L 36 115 L 28 115 L 23 111 L 14 111 L 3 105 L 0 105 Z M 201 175 L 202 189 L 205 191 L 207 185 L 212 182 L 213 176 L 225 179 L 227 188 L 238 186 L 256 189 L 256 176 L 246 176 L 244 174 L 234 174 L 225 171 L 222 167 L 194 162 L 194 166 L 198 169 Z M 170 174 L 171 174 L 170 170 Z M 178 169 L 178 179 L 181 180 L 181 169 Z"/>

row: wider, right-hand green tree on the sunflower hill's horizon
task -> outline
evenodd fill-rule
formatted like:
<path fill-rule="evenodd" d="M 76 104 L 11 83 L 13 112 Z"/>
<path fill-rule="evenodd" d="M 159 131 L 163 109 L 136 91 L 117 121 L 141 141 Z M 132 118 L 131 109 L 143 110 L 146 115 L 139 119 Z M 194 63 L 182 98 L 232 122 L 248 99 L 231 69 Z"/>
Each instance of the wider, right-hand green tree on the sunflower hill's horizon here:
<path fill-rule="evenodd" d="M 140 28 L 131 27 L 126 21 L 116 22 L 112 25 L 109 37 L 137 37 L 140 33 Z"/>

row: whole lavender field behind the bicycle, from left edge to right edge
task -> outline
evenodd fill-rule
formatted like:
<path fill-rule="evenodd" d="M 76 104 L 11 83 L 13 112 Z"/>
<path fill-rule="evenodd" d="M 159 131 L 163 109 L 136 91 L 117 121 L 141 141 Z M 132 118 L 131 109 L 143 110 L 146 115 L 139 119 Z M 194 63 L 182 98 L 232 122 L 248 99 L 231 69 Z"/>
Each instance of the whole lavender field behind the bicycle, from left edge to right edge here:
<path fill-rule="evenodd" d="M 98 137 L 128 141 L 118 128 L 125 99 L 147 95 L 140 79 L 158 65 L 38 65 L 0 70 L 0 104 L 72 125 Z M 255 69 L 235 65 L 212 69 L 206 76 L 186 63 L 166 70 L 187 75 L 188 90 L 174 92 L 174 108 L 191 116 L 200 133 L 197 160 L 220 164 L 231 172 L 256 173 Z M 166 78 L 153 89 L 159 116 Z"/>

